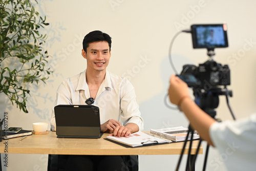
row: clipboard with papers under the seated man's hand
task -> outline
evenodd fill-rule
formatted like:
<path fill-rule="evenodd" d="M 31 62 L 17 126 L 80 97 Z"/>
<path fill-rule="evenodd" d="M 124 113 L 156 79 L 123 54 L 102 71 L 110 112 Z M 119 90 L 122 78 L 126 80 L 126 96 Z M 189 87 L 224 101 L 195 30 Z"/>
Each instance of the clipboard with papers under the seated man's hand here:
<path fill-rule="evenodd" d="M 130 147 L 139 147 L 139 146 L 169 143 L 169 141 L 166 139 L 161 139 L 161 138 L 157 138 L 154 136 L 150 136 L 141 131 L 133 133 L 127 137 L 108 136 L 108 137 L 106 137 L 106 140 L 109 140 L 109 141 L 112 141 L 115 143 L 119 143 L 119 144 L 124 144 L 124 145 L 130 146 Z"/>

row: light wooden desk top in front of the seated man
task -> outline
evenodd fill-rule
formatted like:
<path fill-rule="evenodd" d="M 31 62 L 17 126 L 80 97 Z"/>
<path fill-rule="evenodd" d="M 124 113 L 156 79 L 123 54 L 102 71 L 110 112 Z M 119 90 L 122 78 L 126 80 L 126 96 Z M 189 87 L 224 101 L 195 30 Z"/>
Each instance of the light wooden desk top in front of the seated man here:
<path fill-rule="evenodd" d="M 103 134 L 100 139 L 57 138 L 55 132 L 46 135 L 30 135 L 20 141 L 20 137 L 3 140 L 0 143 L 0 153 L 5 153 L 5 141 L 8 141 L 8 153 L 19 154 L 61 154 L 61 155 L 179 155 L 183 142 L 162 145 L 126 148 L 104 140 L 109 134 Z M 191 154 L 195 154 L 199 141 L 193 141 Z M 188 153 L 187 143 L 184 154 Z M 203 154 L 200 146 L 199 154 Z"/>

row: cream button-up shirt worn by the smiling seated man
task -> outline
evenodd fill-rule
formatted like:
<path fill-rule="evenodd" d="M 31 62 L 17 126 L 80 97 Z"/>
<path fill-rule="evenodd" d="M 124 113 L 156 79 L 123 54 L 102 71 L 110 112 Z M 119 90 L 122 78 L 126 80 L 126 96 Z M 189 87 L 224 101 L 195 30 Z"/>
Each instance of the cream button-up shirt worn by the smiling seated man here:
<path fill-rule="evenodd" d="M 57 89 L 56 100 L 52 108 L 51 129 L 56 131 L 54 107 L 58 104 L 85 104 L 90 98 L 89 87 L 86 82 L 86 71 L 63 81 Z M 100 123 L 114 119 L 126 125 L 135 123 L 139 130 L 143 130 L 144 121 L 141 118 L 139 105 L 132 83 L 126 78 L 119 77 L 106 71 L 105 79 L 101 83 L 95 101 L 98 106 Z"/>

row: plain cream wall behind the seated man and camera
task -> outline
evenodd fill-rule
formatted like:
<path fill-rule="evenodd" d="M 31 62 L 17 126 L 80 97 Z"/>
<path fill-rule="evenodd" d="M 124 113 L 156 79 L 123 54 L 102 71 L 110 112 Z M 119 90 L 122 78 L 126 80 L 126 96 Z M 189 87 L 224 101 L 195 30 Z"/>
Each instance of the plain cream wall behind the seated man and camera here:
<path fill-rule="evenodd" d="M 131 78 L 135 87 L 145 120 L 144 131 L 179 125 L 187 127 L 183 114 L 168 109 L 163 103 L 168 78 L 174 73 L 168 61 L 170 41 L 178 31 L 189 29 L 191 24 L 223 22 L 228 25 L 229 47 L 216 49 L 215 59 L 230 67 L 229 89 L 233 91 L 230 104 L 237 118 L 255 111 L 255 1 L 48 0 L 39 1 L 39 4 L 38 11 L 45 14 L 50 23 L 47 49 L 52 55 L 50 66 L 55 71 L 47 85 L 40 84 L 32 89 L 28 114 L 0 96 L 0 117 L 8 112 L 9 126 L 31 130 L 33 122 L 50 121 L 55 90 L 60 82 L 86 68 L 86 60 L 81 56 L 83 36 L 101 30 L 110 34 L 113 40 L 109 71 Z M 179 72 L 184 64 L 198 65 L 208 59 L 205 49 L 192 48 L 191 35 L 187 33 L 176 38 L 172 56 Z M 217 117 L 231 119 L 224 97 L 220 97 Z M 174 170 L 178 157 L 140 156 L 140 170 Z M 197 169 L 201 170 L 203 158 L 202 155 L 198 158 Z M 226 170 L 219 158 L 218 152 L 210 148 L 207 170 Z M 47 155 L 9 154 L 8 168 L 3 167 L 3 170 L 46 168 Z"/>

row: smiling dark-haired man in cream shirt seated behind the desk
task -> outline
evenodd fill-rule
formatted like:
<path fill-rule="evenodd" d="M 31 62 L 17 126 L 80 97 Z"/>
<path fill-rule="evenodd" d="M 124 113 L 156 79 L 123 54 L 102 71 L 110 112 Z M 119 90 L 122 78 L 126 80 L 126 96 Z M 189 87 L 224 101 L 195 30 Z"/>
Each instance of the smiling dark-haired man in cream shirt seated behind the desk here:
<path fill-rule="evenodd" d="M 111 57 L 111 43 L 111 37 L 101 31 L 92 31 L 84 37 L 82 56 L 87 59 L 87 69 L 60 84 L 54 106 L 86 104 L 87 99 L 93 98 L 93 105 L 100 110 L 101 132 L 128 136 L 143 130 L 144 122 L 131 82 L 106 70 Z M 54 110 L 51 129 L 56 131 Z M 121 170 L 124 169 L 121 162 L 120 156 L 70 156 L 66 168 Z"/>

